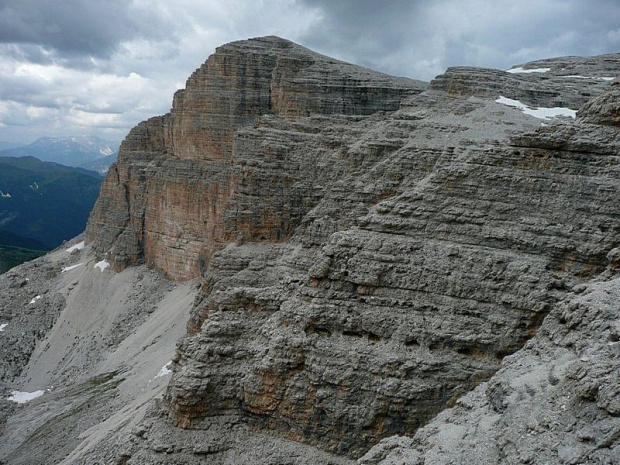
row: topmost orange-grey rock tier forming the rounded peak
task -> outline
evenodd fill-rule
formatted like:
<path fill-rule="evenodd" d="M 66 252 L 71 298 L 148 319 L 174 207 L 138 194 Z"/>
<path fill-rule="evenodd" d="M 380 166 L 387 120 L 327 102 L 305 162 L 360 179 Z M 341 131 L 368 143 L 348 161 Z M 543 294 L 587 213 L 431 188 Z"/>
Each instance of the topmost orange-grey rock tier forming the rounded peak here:
<path fill-rule="evenodd" d="M 425 86 L 319 55 L 280 39 L 233 42 L 215 54 L 175 95 L 172 148 L 184 159 L 230 160 L 236 129 L 256 116 L 286 119 L 369 115 L 397 110 Z"/>

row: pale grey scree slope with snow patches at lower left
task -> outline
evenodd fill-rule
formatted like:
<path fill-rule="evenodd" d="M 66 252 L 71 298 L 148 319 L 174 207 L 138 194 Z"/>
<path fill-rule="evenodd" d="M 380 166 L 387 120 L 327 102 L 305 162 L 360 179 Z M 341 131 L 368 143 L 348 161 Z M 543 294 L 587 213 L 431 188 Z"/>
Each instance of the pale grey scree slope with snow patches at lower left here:
<path fill-rule="evenodd" d="M 198 291 L 145 266 L 102 270 L 89 246 L 67 248 L 0 275 L 1 463 L 76 463 L 67 456 L 131 428 L 164 389 Z M 17 404 L 12 391 L 41 396 Z"/>

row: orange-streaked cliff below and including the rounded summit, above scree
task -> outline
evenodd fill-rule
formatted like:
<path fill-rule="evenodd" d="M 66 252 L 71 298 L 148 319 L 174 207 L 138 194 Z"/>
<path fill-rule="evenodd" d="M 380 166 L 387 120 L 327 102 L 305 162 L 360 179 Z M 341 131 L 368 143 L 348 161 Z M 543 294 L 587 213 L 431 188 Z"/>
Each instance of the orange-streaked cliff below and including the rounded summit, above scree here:
<path fill-rule="evenodd" d="M 177 279 L 199 276 L 213 251 L 239 234 L 283 240 L 313 206 L 316 176 L 330 167 L 300 169 L 318 161 L 312 151 L 288 159 L 292 146 L 312 145 L 312 134 L 258 142 L 260 130 L 238 131 L 260 126 L 266 115 L 293 123 L 393 111 L 424 88 L 277 37 L 222 46 L 176 93 L 170 114 L 127 136 L 88 238 L 100 253 L 111 252 L 117 270 L 144 260 Z M 264 159 L 274 160 L 276 172 L 264 175 Z"/>

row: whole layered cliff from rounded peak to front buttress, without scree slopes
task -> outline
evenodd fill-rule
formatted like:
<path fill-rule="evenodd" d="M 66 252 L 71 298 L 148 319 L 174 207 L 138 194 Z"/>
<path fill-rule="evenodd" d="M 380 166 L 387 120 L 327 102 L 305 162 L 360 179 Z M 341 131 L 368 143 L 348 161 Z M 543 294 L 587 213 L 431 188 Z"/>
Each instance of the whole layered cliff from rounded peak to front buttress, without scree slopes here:
<path fill-rule="evenodd" d="M 414 434 L 571 289 L 615 272 L 620 59 L 536 67 L 451 68 L 422 92 L 256 39 L 219 48 L 169 115 L 135 128 L 88 237 L 117 268 L 201 277 L 172 423 L 357 458 Z M 500 95 L 594 100 L 541 120 Z"/>

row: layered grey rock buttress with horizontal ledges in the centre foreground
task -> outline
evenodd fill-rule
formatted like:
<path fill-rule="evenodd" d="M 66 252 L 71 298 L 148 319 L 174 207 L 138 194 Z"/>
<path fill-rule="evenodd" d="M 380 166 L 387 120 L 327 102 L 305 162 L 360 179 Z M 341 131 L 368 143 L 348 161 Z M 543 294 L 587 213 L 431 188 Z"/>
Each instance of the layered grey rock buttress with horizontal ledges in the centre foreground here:
<path fill-rule="evenodd" d="M 617 134 L 558 123 L 511 139 L 502 119 L 520 113 L 459 103 L 479 108 L 458 124 L 449 110 L 420 122 L 415 104 L 384 120 L 409 126 L 399 148 L 326 195 L 290 246 L 215 255 L 165 398 L 179 425 L 236 414 L 356 456 L 491 377 L 567 289 L 606 269 Z M 491 108 L 492 142 L 476 132 Z M 357 206 L 355 227 L 337 205 Z"/>

